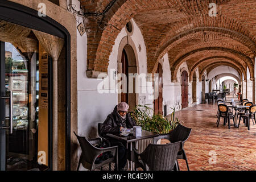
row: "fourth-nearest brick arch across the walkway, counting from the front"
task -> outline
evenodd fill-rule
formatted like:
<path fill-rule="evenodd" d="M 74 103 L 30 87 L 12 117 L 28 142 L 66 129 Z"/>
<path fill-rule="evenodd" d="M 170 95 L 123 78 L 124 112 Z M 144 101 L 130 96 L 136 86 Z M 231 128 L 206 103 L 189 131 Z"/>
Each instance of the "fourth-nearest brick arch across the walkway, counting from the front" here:
<path fill-rule="evenodd" d="M 228 56 L 211 56 L 211 57 L 205 57 L 199 61 L 196 62 L 196 64 L 194 64 L 192 66 L 192 68 L 190 69 L 190 75 L 192 75 L 195 72 L 195 69 L 200 65 L 200 64 L 204 64 L 207 61 L 210 60 L 214 60 L 214 59 L 221 59 L 221 62 L 226 62 L 226 63 L 234 63 L 234 65 L 236 65 L 238 68 L 240 68 L 240 70 L 242 71 L 242 73 L 244 75 L 246 75 L 246 71 L 247 68 L 245 69 L 238 61 L 234 60 L 232 57 L 228 57 Z M 219 61 L 220 62 L 220 61 Z M 206 63 L 207 64 L 207 63 Z M 205 67 L 206 65 L 204 65 Z M 190 80 L 192 80 L 192 77 L 190 77 Z"/>

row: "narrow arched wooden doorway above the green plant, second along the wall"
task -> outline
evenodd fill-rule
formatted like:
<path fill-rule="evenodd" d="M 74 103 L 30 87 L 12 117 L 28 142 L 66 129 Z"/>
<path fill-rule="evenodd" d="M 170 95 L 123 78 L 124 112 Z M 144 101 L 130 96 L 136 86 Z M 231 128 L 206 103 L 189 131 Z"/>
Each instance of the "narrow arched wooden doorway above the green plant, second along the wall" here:
<path fill-rule="evenodd" d="M 154 100 L 155 114 L 163 114 L 163 69 L 162 65 L 158 63 L 158 97 Z"/>

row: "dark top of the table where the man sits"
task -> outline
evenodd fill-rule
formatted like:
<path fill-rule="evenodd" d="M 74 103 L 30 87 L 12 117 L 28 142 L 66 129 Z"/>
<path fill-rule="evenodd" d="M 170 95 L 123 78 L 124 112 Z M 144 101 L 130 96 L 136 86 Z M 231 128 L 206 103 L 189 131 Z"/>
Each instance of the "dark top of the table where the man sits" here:
<path fill-rule="evenodd" d="M 147 138 L 154 138 L 158 137 L 159 134 L 152 133 L 150 131 L 142 130 L 142 136 L 141 137 L 134 137 L 133 134 L 128 135 L 127 137 L 123 137 L 119 134 L 106 134 L 108 137 L 120 140 L 121 142 L 131 143 L 136 142 L 138 140 L 147 139 Z"/>

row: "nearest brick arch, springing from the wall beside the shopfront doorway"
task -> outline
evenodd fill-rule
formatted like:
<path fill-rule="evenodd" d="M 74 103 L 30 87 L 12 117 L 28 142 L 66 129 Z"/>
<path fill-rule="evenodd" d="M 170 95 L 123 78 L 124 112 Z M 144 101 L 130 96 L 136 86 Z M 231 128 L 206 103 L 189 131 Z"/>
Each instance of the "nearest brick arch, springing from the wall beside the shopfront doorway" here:
<path fill-rule="evenodd" d="M 110 1 L 106 1 L 104 5 L 100 5 L 99 1 L 93 4 L 90 1 L 82 1 L 82 5 L 86 9 L 96 11 L 104 11 L 106 5 Z M 95 7 L 93 7 L 95 6 Z M 152 0 L 144 3 L 142 0 L 120 0 L 115 2 L 113 6 L 104 16 L 87 15 L 84 23 L 87 27 L 88 35 L 88 51 L 87 51 L 87 69 L 93 71 L 107 72 L 109 64 L 109 56 L 119 32 L 125 27 L 135 14 L 141 10 L 170 6 L 169 0 Z M 85 12 L 86 13 L 86 12 Z"/>

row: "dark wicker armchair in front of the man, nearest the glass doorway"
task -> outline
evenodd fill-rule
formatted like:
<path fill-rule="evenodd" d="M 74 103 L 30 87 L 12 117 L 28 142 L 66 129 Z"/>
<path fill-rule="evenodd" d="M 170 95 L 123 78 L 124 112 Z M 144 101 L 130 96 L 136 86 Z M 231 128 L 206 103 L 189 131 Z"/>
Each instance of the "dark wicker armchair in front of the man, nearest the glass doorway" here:
<path fill-rule="evenodd" d="M 77 166 L 77 171 L 79 171 L 80 164 L 86 169 L 94 171 L 94 169 L 101 168 L 105 164 L 115 163 L 118 169 L 118 146 L 107 147 L 107 148 L 97 148 L 94 147 L 93 144 L 98 144 L 102 142 L 101 138 L 94 139 L 86 139 L 85 137 L 80 137 L 74 131 L 77 139 L 79 140 L 79 144 L 82 150 L 82 154 L 80 155 L 79 165 Z M 112 152 L 113 157 L 104 160 L 100 164 L 95 164 L 95 160 L 100 154 L 104 152 Z M 111 170 L 111 168 L 110 168 Z"/>

